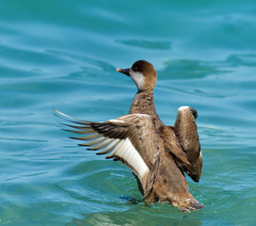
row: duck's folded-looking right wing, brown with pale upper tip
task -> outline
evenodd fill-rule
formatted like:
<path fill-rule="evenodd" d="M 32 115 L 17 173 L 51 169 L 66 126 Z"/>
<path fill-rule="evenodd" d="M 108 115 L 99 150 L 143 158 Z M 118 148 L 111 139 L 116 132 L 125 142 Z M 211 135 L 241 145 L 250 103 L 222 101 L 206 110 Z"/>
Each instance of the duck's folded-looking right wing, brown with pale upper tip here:
<path fill-rule="evenodd" d="M 187 173 L 194 181 L 198 182 L 202 170 L 202 155 L 197 134 L 196 117 L 197 112 L 194 108 L 190 106 L 179 107 L 174 131 L 191 164 Z"/>

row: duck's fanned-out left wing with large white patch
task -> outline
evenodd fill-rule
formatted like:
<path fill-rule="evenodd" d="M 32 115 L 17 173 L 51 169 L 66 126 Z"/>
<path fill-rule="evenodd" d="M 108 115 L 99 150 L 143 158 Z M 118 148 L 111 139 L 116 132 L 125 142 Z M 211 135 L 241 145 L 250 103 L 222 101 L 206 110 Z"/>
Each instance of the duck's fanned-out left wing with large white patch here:
<path fill-rule="evenodd" d="M 125 163 L 138 177 L 143 193 L 149 191 L 154 181 L 154 172 L 158 159 L 158 135 L 150 116 L 132 114 L 105 122 L 80 121 L 56 112 L 73 125 L 65 124 L 76 130 L 68 130 L 83 137 L 73 137 L 84 141 L 81 146 L 89 150 L 101 150 L 97 154 L 108 153 Z"/>

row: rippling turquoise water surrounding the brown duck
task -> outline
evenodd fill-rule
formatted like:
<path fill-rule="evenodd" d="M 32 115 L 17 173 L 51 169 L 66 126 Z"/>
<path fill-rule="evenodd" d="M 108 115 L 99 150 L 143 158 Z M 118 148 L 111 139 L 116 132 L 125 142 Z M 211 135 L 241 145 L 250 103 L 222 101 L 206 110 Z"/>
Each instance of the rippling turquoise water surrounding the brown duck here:
<path fill-rule="evenodd" d="M 256 2 L 32 1 L 0 7 L 0 225 L 255 225 Z M 121 163 L 77 146 L 53 108 L 88 121 L 128 113 L 115 68 L 158 71 L 167 124 L 198 111 L 204 166 L 182 213 L 141 200 Z"/>

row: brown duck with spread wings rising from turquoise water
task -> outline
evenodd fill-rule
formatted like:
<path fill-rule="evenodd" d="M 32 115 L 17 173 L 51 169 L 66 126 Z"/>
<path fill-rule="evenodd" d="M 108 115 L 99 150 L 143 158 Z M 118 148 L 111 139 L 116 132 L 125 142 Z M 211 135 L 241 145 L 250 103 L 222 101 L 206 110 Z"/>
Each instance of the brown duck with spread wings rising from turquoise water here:
<path fill-rule="evenodd" d="M 138 60 L 130 68 L 116 69 L 128 75 L 137 87 L 128 115 L 113 120 L 94 122 L 72 118 L 55 110 L 65 129 L 82 137 L 78 145 L 107 159 L 121 161 L 131 170 L 145 203 L 170 203 L 184 212 L 202 208 L 189 192 L 185 173 L 198 182 L 202 170 L 202 154 L 197 134 L 196 109 L 180 106 L 173 126 L 159 118 L 153 90 L 157 72 L 153 65 Z"/>

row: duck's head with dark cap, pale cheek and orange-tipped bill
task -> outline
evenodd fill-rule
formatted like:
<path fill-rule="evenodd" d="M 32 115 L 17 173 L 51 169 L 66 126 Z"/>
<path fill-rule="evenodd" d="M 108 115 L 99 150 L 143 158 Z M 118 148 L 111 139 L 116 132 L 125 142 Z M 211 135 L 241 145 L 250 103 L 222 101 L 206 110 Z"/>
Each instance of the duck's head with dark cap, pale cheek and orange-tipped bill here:
<path fill-rule="evenodd" d="M 139 91 L 151 91 L 157 83 L 157 73 L 153 65 L 145 60 L 136 61 L 131 68 L 116 69 L 119 73 L 125 73 L 136 84 Z"/>

